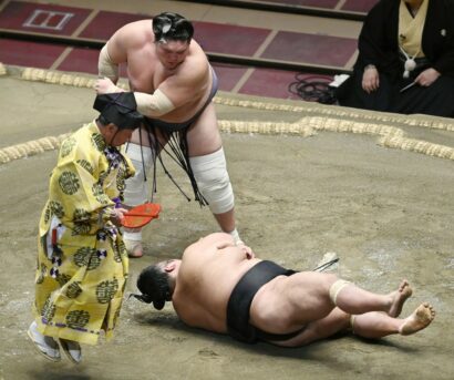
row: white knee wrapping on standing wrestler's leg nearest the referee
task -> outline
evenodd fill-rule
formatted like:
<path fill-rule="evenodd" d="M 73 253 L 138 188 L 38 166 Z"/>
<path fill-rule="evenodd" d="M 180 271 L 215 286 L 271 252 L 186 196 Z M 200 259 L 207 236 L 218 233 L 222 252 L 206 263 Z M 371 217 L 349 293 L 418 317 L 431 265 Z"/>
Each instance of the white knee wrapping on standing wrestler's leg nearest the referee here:
<path fill-rule="evenodd" d="M 149 146 L 130 143 L 125 153 L 134 165 L 135 175 L 125 182 L 124 203 L 128 206 L 137 206 L 148 201 L 145 172 L 149 173 L 153 166 L 153 152 Z"/>

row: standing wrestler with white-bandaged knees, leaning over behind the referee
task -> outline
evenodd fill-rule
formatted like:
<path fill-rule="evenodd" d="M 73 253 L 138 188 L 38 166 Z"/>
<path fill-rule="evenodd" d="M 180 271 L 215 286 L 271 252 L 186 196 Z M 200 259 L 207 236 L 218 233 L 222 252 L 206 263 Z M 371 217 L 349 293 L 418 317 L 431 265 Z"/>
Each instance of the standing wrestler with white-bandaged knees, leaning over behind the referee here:
<path fill-rule="evenodd" d="M 211 102 L 217 76 L 193 34 L 193 24 L 171 12 L 122 27 L 101 50 L 103 79 L 95 90 L 121 91 L 115 85 L 118 64 L 126 63 L 137 111 L 146 116 L 145 127 L 133 134 L 126 150 L 136 175 L 126 182 L 125 204 L 136 206 L 149 199 L 146 172 L 156 168 L 156 160 L 163 164 L 164 150 L 187 173 L 196 201 L 209 205 L 223 232 L 239 242 L 234 193 Z M 155 181 L 154 172 L 153 192 Z M 141 230 L 125 230 L 124 238 L 130 256 L 143 255 Z"/>

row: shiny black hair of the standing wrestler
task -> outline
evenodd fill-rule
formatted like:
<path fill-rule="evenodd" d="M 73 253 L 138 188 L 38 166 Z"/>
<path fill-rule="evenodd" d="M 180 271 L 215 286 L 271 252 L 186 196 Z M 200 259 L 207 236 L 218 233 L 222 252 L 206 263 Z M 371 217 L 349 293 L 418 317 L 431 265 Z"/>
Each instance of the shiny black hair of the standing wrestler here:
<path fill-rule="evenodd" d="M 194 27 L 189 20 L 178 13 L 163 12 L 153 18 L 153 32 L 156 42 L 166 40 L 190 42 Z"/>

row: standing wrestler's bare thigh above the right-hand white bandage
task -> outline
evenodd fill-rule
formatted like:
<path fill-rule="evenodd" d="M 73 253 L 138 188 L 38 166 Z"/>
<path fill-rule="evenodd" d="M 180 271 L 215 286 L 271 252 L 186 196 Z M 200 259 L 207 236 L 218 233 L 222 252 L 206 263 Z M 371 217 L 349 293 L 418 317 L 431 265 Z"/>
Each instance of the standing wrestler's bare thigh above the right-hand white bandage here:
<path fill-rule="evenodd" d="M 213 103 L 208 104 L 197 121 L 189 127 L 187 143 L 190 157 L 214 153 L 223 145 Z"/>

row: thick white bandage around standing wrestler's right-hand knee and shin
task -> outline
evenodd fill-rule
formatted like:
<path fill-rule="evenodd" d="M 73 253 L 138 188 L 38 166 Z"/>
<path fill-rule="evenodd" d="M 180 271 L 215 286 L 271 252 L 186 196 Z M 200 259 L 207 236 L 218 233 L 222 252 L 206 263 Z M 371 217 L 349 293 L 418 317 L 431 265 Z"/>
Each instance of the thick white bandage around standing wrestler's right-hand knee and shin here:
<path fill-rule="evenodd" d="M 202 195 L 213 214 L 224 214 L 234 208 L 234 191 L 227 173 L 223 147 L 211 154 L 189 157 L 189 164 Z"/>

